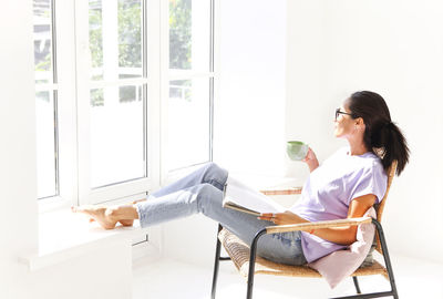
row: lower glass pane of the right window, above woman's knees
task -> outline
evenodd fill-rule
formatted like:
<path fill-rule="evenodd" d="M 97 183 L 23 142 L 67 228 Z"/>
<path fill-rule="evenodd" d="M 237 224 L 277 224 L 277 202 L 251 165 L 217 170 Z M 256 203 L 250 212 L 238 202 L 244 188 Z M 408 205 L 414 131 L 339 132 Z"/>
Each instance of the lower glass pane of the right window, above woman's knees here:
<path fill-rule="evenodd" d="M 169 169 L 209 161 L 209 80 L 169 82 Z"/>

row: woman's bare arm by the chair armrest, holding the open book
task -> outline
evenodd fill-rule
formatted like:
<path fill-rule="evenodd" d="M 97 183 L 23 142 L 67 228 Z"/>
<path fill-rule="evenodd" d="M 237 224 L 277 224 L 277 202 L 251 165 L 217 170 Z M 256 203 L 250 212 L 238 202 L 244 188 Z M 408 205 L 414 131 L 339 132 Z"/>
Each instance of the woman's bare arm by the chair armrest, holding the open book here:
<path fill-rule="evenodd" d="M 362 217 L 364 213 L 375 203 L 375 195 L 368 194 L 354 198 L 349 205 L 348 218 Z M 307 219 L 287 210 L 277 214 L 262 214 L 259 219 L 272 221 L 276 225 L 302 224 L 309 223 Z M 344 226 L 336 228 L 319 228 L 311 233 L 322 239 L 341 245 L 351 245 L 357 240 L 357 226 Z"/>

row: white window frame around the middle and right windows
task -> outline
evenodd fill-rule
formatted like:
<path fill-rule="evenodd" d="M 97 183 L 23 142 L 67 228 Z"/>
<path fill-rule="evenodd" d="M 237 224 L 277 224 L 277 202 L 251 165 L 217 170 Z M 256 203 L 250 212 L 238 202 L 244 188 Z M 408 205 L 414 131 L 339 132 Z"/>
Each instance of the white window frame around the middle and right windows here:
<path fill-rule="evenodd" d="M 209 1 L 209 0 L 207 0 Z M 218 1 L 212 1 L 213 25 L 214 6 Z M 147 76 L 127 79 L 128 84 L 146 84 L 146 151 L 147 151 L 147 177 L 125 183 L 110 185 L 92 189 L 90 186 L 89 161 L 89 101 L 78 99 L 90 97 L 89 82 L 89 1 L 63 0 L 63 4 L 54 1 L 56 28 L 56 73 L 58 83 L 58 148 L 59 148 L 59 195 L 39 200 L 40 212 L 45 212 L 63 206 L 99 204 L 105 202 L 120 203 L 143 197 L 147 192 L 155 190 L 161 185 L 174 177 L 174 174 L 187 172 L 169 172 L 167 157 L 162 148 L 165 138 L 162 134 L 167 132 L 167 103 L 169 80 L 208 78 L 212 79 L 212 93 L 216 86 L 216 71 L 207 73 L 169 74 L 168 70 L 168 1 L 144 0 L 143 13 L 147 13 L 145 28 L 147 32 Z M 212 30 L 215 31 L 214 29 Z M 214 33 L 213 33 L 214 34 Z M 214 35 L 213 35 L 214 39 Z M 216 47 L 213 40 L 213 65 L 216 55 Z M 166 54 L 165 54 L 166 53 Z M 158 59 L 159 58 L 159 59 Z M 213 115 L 214 96 L 210 100 L 210 153 L 213 154 Z M 192 169 L 189 165 L 187 167 Z"/>

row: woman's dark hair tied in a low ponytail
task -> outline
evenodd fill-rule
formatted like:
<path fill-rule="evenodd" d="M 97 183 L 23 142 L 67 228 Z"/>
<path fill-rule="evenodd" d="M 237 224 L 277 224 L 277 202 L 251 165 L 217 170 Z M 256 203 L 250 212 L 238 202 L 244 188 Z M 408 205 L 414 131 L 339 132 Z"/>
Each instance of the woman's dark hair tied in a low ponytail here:
<path fill-rule="evenodd" d="M 384 171 L 396 159 L 396 174 L 400 175 L 409 162 L 410 151 L 403 133 L 392 123 L 383 97 L 374 92 L 359 91 L 344 104 L 354 118 L 363 118 L 363 142 L 367 148 L 381 158 Z"/>

